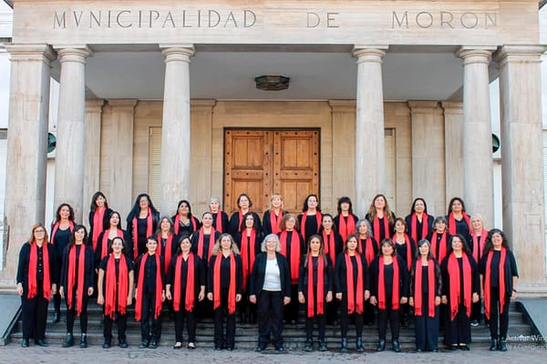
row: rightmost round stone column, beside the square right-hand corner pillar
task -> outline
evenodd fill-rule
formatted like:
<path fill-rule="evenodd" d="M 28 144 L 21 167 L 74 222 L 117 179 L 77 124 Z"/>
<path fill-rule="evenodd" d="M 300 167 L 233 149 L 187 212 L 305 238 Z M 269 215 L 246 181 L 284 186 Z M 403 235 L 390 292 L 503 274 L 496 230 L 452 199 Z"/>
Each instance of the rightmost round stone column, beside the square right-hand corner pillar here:
<path fill-rule="evenodd" d="M 492 129 L 488 66 L 496 47 L 459 48 L 463 59 L 463 199 L 466 210 L 494 222 Z"/>

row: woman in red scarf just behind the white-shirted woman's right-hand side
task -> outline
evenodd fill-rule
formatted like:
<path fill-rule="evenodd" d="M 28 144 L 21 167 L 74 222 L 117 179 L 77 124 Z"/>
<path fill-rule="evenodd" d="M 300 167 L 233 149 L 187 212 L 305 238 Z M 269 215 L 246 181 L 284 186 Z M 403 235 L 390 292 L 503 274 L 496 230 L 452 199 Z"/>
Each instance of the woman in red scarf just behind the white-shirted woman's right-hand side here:
<path fill-rule="evenodd" d="M 298 220 L 293 214 L 284 215 L 281 220 L 281 232 L 277 233 L 281 250 L 279 253 L 287 259 L 291 272 L 291 302 L 284 309 L 284 319 L 295 325 L 298 321 L 298 272 L 300 258 L 304 253 L 304 238 L 297 231 Z"/>

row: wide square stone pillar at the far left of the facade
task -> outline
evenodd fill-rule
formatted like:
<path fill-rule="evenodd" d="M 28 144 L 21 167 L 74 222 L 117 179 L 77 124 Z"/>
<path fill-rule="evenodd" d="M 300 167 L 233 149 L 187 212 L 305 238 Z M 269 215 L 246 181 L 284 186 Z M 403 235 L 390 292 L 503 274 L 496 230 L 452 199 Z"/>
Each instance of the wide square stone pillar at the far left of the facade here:
<path fill-rule="evenodd" d="M 47 114 L 55 53 L 49 45 L 8 45 L 11 56 L 5 178 L 7 252 L 0 286 L 13 289 L 19 249 L 46 212 Z"/>

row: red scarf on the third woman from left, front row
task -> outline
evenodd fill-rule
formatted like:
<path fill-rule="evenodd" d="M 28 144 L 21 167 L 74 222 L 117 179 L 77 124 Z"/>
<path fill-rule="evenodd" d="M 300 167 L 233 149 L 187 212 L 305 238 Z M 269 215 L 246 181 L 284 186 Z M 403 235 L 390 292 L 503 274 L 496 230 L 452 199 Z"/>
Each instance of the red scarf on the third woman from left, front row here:
<path fill-rule="evenodd" d="M 114 257 L 114 253 L 111 253 L 107 263 L 105 285 L 105 316 L 108 316 L 110 319 L 116 317 L 116 310 L 120 314 L 125 315 L 128 306 L 129 271 L 125 254 L 119 256 L 118 282 L 116 280 L 116 258 Z M 118 308 L 116 307 L 116 290 L 118 290 Z"/>

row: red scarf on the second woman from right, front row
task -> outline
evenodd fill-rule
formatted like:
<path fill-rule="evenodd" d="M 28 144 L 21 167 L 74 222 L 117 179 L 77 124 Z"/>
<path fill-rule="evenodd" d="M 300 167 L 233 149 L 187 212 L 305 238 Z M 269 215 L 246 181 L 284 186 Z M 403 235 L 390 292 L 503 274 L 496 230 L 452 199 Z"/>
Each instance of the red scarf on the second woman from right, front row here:
<path fill-rule="evenodd" d="M 450 319 L 454 319 L 458 313 L 459 301 L 463 296 L 463 305 L 466 308 L 468 318 L 471 315 L 471 265 L 467 254 L 462 255 L 463 262 L 463 292 L 459 291 L 459 264 L 454 254 L 449 256 L 449 284 L 450 284 Z"/>

